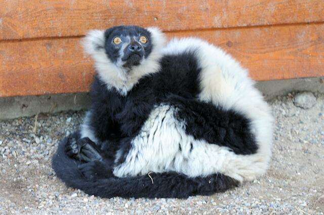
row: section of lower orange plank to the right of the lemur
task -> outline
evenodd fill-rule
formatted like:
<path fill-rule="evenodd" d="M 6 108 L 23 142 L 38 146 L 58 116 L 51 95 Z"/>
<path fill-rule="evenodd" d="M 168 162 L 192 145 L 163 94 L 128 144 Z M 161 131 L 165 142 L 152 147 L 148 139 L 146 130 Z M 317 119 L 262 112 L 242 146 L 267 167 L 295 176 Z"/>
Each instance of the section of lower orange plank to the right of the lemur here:
<path fill-rule="evenodd" d="M 324 76 L 324 24 L 176 32 L 204 38 L 229 52 L 255 80 Z"/>

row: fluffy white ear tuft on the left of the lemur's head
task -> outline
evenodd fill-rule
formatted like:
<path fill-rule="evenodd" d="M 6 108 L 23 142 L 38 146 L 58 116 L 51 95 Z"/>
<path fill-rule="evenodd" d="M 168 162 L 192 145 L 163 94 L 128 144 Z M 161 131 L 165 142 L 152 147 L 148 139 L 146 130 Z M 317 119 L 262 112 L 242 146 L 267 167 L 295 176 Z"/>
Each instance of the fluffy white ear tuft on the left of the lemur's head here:
<path fill-rule="evenodd" d="M 98 52 L 104 51 L 105 48 L 105 31 L 91 30 L 83 39 L 82 44 L 85 51 L 89 55 L 95 55 Z"/>

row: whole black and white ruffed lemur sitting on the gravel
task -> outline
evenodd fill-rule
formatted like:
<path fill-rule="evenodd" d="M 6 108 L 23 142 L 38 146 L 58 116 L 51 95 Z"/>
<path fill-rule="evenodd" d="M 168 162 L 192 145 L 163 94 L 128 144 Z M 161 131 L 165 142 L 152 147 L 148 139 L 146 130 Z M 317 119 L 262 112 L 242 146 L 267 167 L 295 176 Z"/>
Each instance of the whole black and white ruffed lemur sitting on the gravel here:
<path fill-rule="evenodd" d="M 85 37 L 92 106 L 53 169 L 101 197 L 210 195 L 265 173 L 273 118 L 248 72 L 197 38 L 116 26 Z"/>

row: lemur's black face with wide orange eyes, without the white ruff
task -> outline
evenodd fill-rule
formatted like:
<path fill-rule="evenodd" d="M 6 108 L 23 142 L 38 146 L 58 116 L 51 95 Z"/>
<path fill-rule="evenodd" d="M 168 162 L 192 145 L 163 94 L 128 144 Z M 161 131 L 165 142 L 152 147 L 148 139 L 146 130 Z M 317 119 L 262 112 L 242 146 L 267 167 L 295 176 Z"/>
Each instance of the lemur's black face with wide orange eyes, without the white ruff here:
<path fill-rule="evenodd" d="M 132 69 L 152 50 L 151 33 L 137 26 L 117 26 L 105 31 L 105 52 L 118 67 Z"/>

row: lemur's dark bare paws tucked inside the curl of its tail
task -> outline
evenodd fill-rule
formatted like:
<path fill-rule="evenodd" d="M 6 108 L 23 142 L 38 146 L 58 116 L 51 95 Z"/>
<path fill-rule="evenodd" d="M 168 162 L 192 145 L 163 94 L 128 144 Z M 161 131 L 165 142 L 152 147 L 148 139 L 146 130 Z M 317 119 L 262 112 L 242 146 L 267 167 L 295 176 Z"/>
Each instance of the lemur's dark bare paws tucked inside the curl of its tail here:
<path fill-rule="evenodd" d="M 93 162 L 95 160 L 102 160 L 100 149 L 88 137 L 76 140 L 69 137 L 65 145 L 65 153 L 80 162 Z"/>

